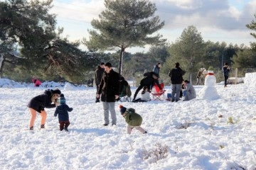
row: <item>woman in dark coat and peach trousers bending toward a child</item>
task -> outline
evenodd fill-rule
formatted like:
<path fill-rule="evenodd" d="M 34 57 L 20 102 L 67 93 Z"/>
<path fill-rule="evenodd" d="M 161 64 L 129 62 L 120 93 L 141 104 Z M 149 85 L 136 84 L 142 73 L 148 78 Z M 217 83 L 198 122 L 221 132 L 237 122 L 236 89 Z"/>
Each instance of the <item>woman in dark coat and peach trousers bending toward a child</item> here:
<path fill-rule="evenodd" d="M 36 112 L 41 115 L 41 129 L 45 128 L 47 113 L 45 108 L 55 108 L 58 105 L 57 99 L 60 97 L 61 91 L 59 89 L 46 90 L 43 94 L 35 96 L 28 102 L 28 109 L 31 113 L 31 120 L 29 122 L 29 130 L 33 130 L 33 125 L 36 120 Z"/>

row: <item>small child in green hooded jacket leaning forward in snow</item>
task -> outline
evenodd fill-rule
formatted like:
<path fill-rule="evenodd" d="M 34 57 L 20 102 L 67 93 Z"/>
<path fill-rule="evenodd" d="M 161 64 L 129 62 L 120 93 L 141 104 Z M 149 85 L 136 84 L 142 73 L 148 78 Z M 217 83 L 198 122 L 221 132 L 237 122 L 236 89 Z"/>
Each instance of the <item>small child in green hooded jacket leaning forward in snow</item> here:
<path fill-rule="evenodd" d="M 131 134 L 132 129 L 135 128 L 142 132 L 143 134 L 146 133 L 146 130 L 144 130 L 140 125 L 142 125 L 142 116 L 138 113 L 135 113 L 134 108 L 125 108 L 124 106 L 120 105 L 120 113 L 125 118 L 125 121 L 127 122 L 127 133 Z"/>

